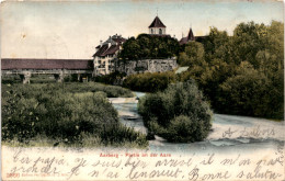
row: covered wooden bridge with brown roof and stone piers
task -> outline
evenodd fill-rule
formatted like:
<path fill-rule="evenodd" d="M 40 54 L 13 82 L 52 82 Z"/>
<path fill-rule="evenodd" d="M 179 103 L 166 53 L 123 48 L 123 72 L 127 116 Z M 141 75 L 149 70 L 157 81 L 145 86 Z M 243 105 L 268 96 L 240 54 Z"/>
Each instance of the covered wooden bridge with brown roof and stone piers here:
<path fill-rule="evenodd" d="M 56 81 L 61 82 L 66 76 L 71 75 L 77 75 L 80 81 L 88 81 L 92 73 L 92 59 L 1 59 L 1 75 L 19 75 L 23 83 L 30 83 L 32 75 L 53 75 Z"/>

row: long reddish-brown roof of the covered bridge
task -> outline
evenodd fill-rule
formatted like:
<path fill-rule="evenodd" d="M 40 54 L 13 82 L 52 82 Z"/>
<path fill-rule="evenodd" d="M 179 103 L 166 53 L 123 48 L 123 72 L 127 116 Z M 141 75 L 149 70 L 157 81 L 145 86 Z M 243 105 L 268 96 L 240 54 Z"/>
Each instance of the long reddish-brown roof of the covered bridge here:
<path fill-rule="evenodd" d="M 93 60 L 89 59 L 33 59 L 33 58 L 2 58 L 2 70 L 12 69 L 68 69 L 68 70 L 91 70 Z"/>

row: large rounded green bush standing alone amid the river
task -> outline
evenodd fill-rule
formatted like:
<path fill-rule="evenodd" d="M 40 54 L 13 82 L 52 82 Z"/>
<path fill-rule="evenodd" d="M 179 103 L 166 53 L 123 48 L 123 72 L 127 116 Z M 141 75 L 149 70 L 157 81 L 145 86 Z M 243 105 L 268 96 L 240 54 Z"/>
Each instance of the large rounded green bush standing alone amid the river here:
<path fill-rule="evenodd" d="M 148 133 L 169 142 L 203 140 L 212 127 L 209 105 L 193 81 L 147 94 L 139 100 L 138 109 Z"/>

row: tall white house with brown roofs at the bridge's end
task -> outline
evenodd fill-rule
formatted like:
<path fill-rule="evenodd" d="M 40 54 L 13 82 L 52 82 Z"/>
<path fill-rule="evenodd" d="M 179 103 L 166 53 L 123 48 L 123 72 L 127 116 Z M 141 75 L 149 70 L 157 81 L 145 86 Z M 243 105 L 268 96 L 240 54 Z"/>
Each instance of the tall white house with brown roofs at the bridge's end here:
<path fill-rule="evenodd" d="M 115 69 L 115 60 L 118 52 L 122 49 L 122 45 L 126 42 L 121 35 L 113 35 L 104 43 L 100 43 L 96 46 L 96 53 L 94 58 L 94 75 L 109 75 Z"/>

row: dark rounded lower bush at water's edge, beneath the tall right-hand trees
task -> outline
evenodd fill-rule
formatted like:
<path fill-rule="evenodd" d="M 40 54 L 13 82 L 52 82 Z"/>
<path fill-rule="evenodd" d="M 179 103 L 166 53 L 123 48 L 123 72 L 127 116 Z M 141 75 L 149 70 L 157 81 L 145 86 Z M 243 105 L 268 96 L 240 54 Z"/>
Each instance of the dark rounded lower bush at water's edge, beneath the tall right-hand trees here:
<path fill-rule="evenodd" d="M 272 81 L 253 68 L 243 69 L 220 84 L 223 94 L 218 99 L 220 106 L 217 111 L 282 120 L 284 110 L 282 81 L 283 78 Z M 278 82 L 280 86 L 274 82 Z"/>

